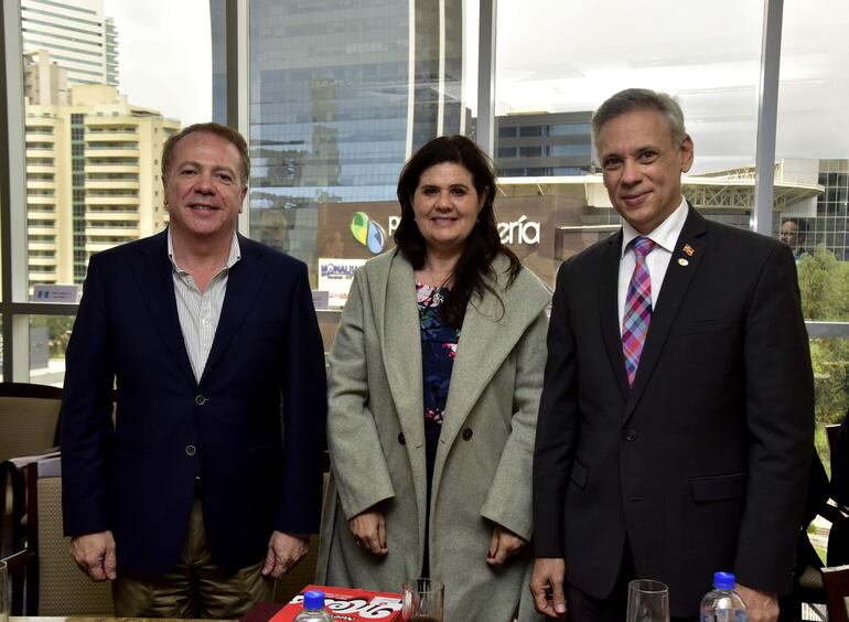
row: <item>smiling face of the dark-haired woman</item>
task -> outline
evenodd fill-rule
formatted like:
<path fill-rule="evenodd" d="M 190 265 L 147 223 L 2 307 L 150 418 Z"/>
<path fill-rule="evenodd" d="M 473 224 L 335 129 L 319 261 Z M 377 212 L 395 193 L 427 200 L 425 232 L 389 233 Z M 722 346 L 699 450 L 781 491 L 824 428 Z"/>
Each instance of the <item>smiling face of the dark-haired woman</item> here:
<path fill-rule="evenodd" d="M 428 253 L 460 255 L 488 192 L 479 196 L 472 173 L 462 164 L 424 169 L 412 194 L 412 212 Z"/>

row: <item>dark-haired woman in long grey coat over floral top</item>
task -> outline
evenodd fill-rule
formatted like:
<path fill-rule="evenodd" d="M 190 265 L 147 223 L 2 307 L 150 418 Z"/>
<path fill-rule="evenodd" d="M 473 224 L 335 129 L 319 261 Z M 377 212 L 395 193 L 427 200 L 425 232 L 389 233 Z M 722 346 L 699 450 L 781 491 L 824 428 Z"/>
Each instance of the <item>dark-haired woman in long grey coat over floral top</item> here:
<path fill-rule="evenodd" d="M 471 140 L 422 147 L 397 248 L 356 272 L 330 355 L 318 580 L 431 577 L 449 622 L 539 619 L 525 586 L 550 293 L 501 243 L 494 196 Z"/>

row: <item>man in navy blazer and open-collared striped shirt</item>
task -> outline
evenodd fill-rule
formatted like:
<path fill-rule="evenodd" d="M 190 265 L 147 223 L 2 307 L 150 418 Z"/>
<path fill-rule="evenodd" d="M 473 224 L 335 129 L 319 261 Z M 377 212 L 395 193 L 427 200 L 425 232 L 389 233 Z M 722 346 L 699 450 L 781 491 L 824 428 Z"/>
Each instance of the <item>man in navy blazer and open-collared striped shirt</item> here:
<path fill-rule="evenodd" d="M 88 267 L 64 522 L 121 616 L 238 618 L 319 527 L 324 352 L 307 266 L 236 233 L 249 170 L 238 132 L 185 128 L 162 154 L 169 228 Z"/>

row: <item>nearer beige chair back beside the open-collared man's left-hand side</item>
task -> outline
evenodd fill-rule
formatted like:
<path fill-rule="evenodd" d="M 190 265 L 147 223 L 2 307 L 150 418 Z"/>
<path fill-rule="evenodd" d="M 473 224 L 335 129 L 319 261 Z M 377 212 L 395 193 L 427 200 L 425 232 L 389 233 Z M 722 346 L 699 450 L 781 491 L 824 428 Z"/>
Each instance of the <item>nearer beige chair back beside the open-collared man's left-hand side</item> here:
<path fill-rule="evenodd" d="M 37 609 L 28 615 L 112 616 L 111 585 L 95 583 L 77 568 L 69 554 L 71 538 L 63 535 L 60 458 L 41 460 L 28 469 L 35 471 L 29 473 L 29 497 L 35 501 L 28 514 L 35 523 L 35 533 L 30 533 L 39 568 L 37 585 L 26 586 L 28 591 L 36 591 Z"/>

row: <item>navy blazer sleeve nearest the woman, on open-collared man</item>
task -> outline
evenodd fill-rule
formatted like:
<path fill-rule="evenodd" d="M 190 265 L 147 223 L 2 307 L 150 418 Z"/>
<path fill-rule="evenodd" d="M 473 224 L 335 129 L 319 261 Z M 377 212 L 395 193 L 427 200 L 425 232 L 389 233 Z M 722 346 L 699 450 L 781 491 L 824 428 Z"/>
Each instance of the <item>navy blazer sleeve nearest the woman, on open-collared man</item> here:
<path fill-rule="evenodd" d="M 276 528 L 289 534 L 312 534 L 321 523 L 327 384 L 324 345 L 305 265 L 299 265 L 293 281 L 280 387 L 286 451 Z"/>

